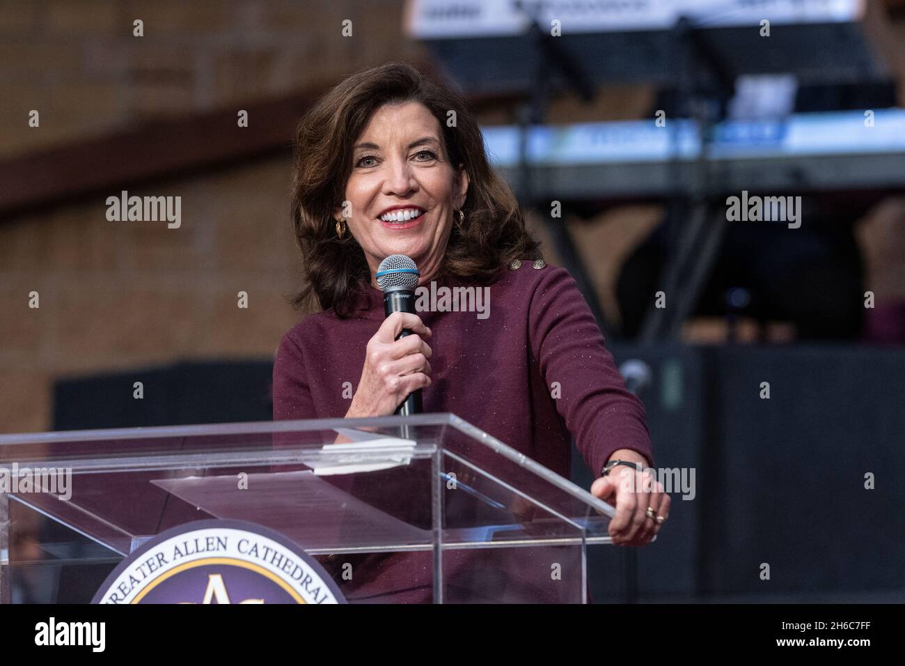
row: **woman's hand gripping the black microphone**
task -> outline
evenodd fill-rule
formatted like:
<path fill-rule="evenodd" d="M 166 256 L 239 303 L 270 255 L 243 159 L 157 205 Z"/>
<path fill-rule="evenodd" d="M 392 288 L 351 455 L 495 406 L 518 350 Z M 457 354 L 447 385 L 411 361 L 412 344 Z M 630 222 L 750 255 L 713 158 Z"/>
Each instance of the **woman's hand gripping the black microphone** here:
<path fill-rule="evenodd" d="M 412 333 L 396 340 L 408 329 Z M 365 367 L 347 419 L 393 414 L 409 393 L 431 385 L 431 348 L 422 340 L 431 329 L 417 314 L 393 313 L 367 341 Z"/>

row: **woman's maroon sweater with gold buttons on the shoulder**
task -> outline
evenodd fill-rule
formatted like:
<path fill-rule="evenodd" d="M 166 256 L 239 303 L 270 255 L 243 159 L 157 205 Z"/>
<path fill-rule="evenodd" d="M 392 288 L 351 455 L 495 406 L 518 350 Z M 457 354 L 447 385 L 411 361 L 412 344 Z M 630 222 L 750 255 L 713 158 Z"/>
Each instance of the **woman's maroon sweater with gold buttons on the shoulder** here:
<path fill-rule="evenodd" d="M 454 277 L 437 282 L 465 284 Z M 501 271 L 489 289 L 484 319 L 475 312 L 419 312 L 433 332 L 424 412 L 452 412 L 566 478 L 572 436 L 595 472 L 615 449 L 634 449 L 653 465 L 643 403 L 626 391 L 567 271 L 525 261 Z M 273 366 L 274 420 L 346 415 L 351 399 L 343 385 L 357 389 L 367 342 L 385 319 L 375 287 L 358 305 L 347 319 L 332 310 L 312 314 L 282 337 Z M 394 555 L 385 569 L 399 562 L 410 578 L 406 557 Z"/>

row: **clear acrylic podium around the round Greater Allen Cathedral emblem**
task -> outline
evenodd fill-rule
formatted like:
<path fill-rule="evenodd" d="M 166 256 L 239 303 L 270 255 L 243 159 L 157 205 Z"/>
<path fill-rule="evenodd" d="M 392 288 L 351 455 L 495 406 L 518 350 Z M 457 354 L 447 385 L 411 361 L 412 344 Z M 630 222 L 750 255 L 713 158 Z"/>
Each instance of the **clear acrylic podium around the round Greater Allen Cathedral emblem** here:
<path fill-rule="evenodd" d="M 209 518 L 288 537 L 349 603 L 585 603 L 614 516 L 445 413 L 2 435 L 0 468 L 71 474 L 68 499 L 0 486 L 2 603 L 87 603 L 130 551 Z"/>

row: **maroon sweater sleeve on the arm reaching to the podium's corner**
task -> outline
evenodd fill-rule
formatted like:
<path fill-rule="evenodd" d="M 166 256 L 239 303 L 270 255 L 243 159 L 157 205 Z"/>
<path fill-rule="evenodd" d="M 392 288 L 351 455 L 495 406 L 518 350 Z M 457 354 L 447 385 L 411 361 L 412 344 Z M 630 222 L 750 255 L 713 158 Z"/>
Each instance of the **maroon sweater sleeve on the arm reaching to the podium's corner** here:
<path fill-rule="evenodd" d="M 531 296 L 531 352 L 557 411 L 595 476 L 616 449 L 633 449 L 653 465 L 644 405 L 625 388 L 585 297 L 565 268 L 543 271 Z"/>

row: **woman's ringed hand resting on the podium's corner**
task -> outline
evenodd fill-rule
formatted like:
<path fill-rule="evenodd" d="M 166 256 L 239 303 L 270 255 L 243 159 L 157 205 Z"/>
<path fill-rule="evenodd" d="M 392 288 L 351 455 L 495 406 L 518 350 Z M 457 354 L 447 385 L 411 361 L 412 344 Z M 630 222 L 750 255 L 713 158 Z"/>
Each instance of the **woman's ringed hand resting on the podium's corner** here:
<path fill-rule="evenodd" d="M 636 462 L 643 471 L 616 465 L 605 477 L 595 480 L 591 494 L 616 509 L 608 530 L 614 544 L 647 545 L 669 517 L 672 499 L 663 492 L 663 485 L 653 476 L 647 459 L 637 451 L 619 449 L 609 460 Z M 653 518 L 647 515 L 648 507 L 655 512 Z M 658 521 L 657 516 L 663 520 Z"/>

